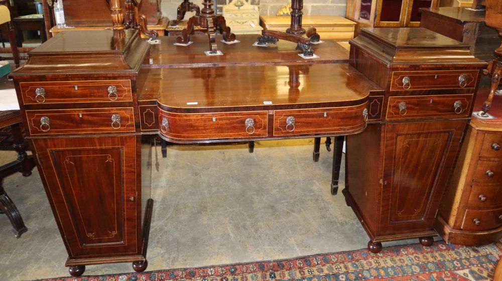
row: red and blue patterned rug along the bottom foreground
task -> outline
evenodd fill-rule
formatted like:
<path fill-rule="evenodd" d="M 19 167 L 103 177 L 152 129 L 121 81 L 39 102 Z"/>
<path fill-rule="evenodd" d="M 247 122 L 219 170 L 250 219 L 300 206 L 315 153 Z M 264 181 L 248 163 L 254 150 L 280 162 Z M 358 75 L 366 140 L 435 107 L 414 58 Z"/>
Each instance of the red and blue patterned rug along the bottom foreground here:
<path fill-rule="evenodd" d="M 51 281 L 352 281 L 352 280 L 491 280 L 502 256 L 502 243 L 465 247 L 436 242 L 318 254 L 283 260 L 120 273 L 60 277 Z"/>

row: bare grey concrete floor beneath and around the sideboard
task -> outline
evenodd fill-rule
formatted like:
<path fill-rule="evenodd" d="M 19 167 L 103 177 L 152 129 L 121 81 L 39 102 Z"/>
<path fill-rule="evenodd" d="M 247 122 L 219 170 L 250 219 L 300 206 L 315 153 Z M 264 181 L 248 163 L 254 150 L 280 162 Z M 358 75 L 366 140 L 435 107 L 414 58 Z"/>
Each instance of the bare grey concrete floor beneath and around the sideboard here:
<path fill-rule="evenodd" d="M 322 145 L 314 163 L 312 148 L 313 139 L 257 142 L 253 154 L 247 145 L 173 146 L 162 158 L 155 147 L 147 270 L 365 248 L 369 238 L 343 196 L 330 194 L 332 152 Z M 0 152 L 0 164 L 15 157 Z M 4 186 L 29 230 L 16 239 L 0 215 L 0 281 L 68 276 L 37 169 Z M 408 243 L 418 239 L 384 247 Z M 89 265 L 84 274 L 130 271 L 131 263 L 118 263 Z"/>

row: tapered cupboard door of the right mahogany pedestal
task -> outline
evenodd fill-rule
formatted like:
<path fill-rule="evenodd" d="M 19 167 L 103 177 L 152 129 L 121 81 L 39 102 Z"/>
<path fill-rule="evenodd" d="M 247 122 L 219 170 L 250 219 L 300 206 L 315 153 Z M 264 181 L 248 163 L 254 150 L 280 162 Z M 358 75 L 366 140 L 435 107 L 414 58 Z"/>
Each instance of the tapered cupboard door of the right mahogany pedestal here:
<path fill-rule="evenodd" d="M 386 125 L 382 232 L 431 228 L 465 125 L 465 120 Z"/>

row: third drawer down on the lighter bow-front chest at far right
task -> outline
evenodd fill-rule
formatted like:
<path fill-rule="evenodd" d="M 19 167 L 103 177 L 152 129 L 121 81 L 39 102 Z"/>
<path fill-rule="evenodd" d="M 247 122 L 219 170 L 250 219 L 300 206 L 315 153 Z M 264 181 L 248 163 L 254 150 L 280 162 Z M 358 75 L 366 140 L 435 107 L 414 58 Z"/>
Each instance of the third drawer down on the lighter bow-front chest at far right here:
<path fill-rule="evenodd" d="M 472 185 L 469 209 L 487 209 L 502 205 L 502 186 Z"/>

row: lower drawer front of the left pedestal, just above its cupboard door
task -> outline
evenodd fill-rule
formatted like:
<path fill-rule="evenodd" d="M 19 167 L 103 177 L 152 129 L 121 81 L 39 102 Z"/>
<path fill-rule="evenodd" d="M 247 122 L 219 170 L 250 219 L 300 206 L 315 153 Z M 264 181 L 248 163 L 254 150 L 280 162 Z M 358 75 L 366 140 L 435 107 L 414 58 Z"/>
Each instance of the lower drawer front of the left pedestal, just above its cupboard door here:
<path fill-rule="evenodd" d="M 134 132 L 133 108 L 27 110 L 33 135 Z"/>

